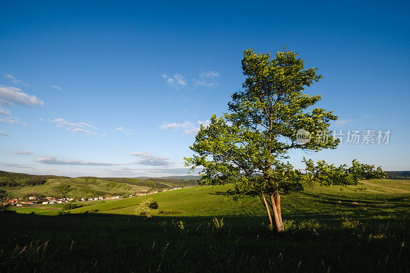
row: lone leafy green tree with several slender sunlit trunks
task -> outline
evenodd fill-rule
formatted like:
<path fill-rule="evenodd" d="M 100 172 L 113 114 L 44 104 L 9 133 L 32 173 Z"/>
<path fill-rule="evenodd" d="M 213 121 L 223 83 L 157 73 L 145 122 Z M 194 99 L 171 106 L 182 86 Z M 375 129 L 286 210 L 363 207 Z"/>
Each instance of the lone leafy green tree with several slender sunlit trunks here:
<path fill-rule="evenodd" d="M 315 166 L 312 160 L 303 158 L 304 173 L 285 162 L 292 149 L 318 152 L 335 149 L 340 142 L 327 133 L 330 121 L 337 116 L 322 108 L 308 111 L 321 97 L 302 93 L 322 76 L 317 68 L 304 69 L 297 53 L 284 52 L 284 47 L 273 60 L 270 53 L 256 54 L 252 49 L 243 54 L 246 80 L 242 91 L 232 95 L 229 113 L 220 118 L 213 115 L 208 127 L 201 125 L 190 146 L 195 154 L 185 158 L 192 170 L 203 166 L 202 184 L 235 183 L 234 189 L 226 192 L 234 199 L 259 197 L 272 229 L 276 226 L 281 232 L 281 194 L 303 190 L 304 185 L 315 182 L 348 186 L 385 175 L 380 167 L 375 169 L 356 160 L 347 168 L 324 161 Z M 298 138 L 301 134 L 305 138 Z"/>

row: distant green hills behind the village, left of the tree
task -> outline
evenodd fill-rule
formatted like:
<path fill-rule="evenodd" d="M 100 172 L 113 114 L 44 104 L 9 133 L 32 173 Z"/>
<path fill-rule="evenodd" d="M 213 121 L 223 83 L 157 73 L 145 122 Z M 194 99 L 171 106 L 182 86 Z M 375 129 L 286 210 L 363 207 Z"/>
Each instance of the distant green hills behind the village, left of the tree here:
<path fill-rule="evenodd" d="M 197 180 L 193 176 L 190 178 L 70 178 L 0 171 L 0 197 L 32 195 L 73 198 L 116 196 L 196 184 Z"/>

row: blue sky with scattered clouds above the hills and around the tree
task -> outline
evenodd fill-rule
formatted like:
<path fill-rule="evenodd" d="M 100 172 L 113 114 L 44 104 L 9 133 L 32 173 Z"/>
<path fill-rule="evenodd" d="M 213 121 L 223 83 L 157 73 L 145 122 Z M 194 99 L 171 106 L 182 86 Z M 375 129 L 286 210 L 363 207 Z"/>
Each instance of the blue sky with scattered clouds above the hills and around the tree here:
<path fill-rule="evenodd" d="M 115 4 L 115 5 L 114 5 Z M 408 2 L 0 3 L 0 169 L 71 177 L 183 175 L 200 123 L 241 89 L 243 51 L 286 45 L 332 129 L 388 143 L 303 155 L 408 170 Z M 344 136 L 346 138 L 346 135 Z M 386 141 L 385 141 L 386 142 Z"/>

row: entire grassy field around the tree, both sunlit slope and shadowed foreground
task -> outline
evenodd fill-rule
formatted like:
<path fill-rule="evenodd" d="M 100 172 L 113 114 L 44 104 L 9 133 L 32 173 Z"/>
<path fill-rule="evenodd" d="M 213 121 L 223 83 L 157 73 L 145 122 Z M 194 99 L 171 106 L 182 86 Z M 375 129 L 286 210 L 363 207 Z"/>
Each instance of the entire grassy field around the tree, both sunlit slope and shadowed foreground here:
<path fill-rule="evenodd" d="M 22 213 L 0 214 L 7 223 L 0 271 L 409 272 L 409 181 L 364 186 L 318 186 L 283 197 L 281 235 L 268 231 L 257 199 L 224 197 L 229 185 L 99 202 L 59 216 L 52 216 L 58 206 L 15 208 Z M 135 216 L 148 197 L 164 213 Z"/>

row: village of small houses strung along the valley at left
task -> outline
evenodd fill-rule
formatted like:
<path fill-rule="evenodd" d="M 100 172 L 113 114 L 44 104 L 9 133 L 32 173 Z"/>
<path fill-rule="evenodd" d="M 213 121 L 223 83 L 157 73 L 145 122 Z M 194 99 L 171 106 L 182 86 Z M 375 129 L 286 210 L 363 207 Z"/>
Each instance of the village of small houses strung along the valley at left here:
<path fill-rule="evenodd" d="M 0 201 L 0 207 L 27 207 L 27 206 L 34 206 L 34 205 L 51 205 L 51 204 L 60 204 L 60 203 L 70 203 L 70 202 L 84 202 L 84 201 L 98 201 L 98 200 L 115 200 L 120 198 L 129 198 L 135 196 L 145 196 L 147 194 L 158 193 L 161 191 L 169 191 L 169 190 L 177 190 L 182 188 L 192 188 L 196 186 L 187 186 L 187 187 L 176 187 L 171 189 L 163 189 L 163 190 L 155 190 L 155 191 L 148 191 L 148 190 L 141 190 L 136 193 L 132 194 L 125 194 L 122 196 L 98 196 L 98 197 L 83 197 L 83 198 L 68 198 L 68 197 L 38 197 L 38 196 L 30 196 L 26 198 L 6 198 Z"/>

